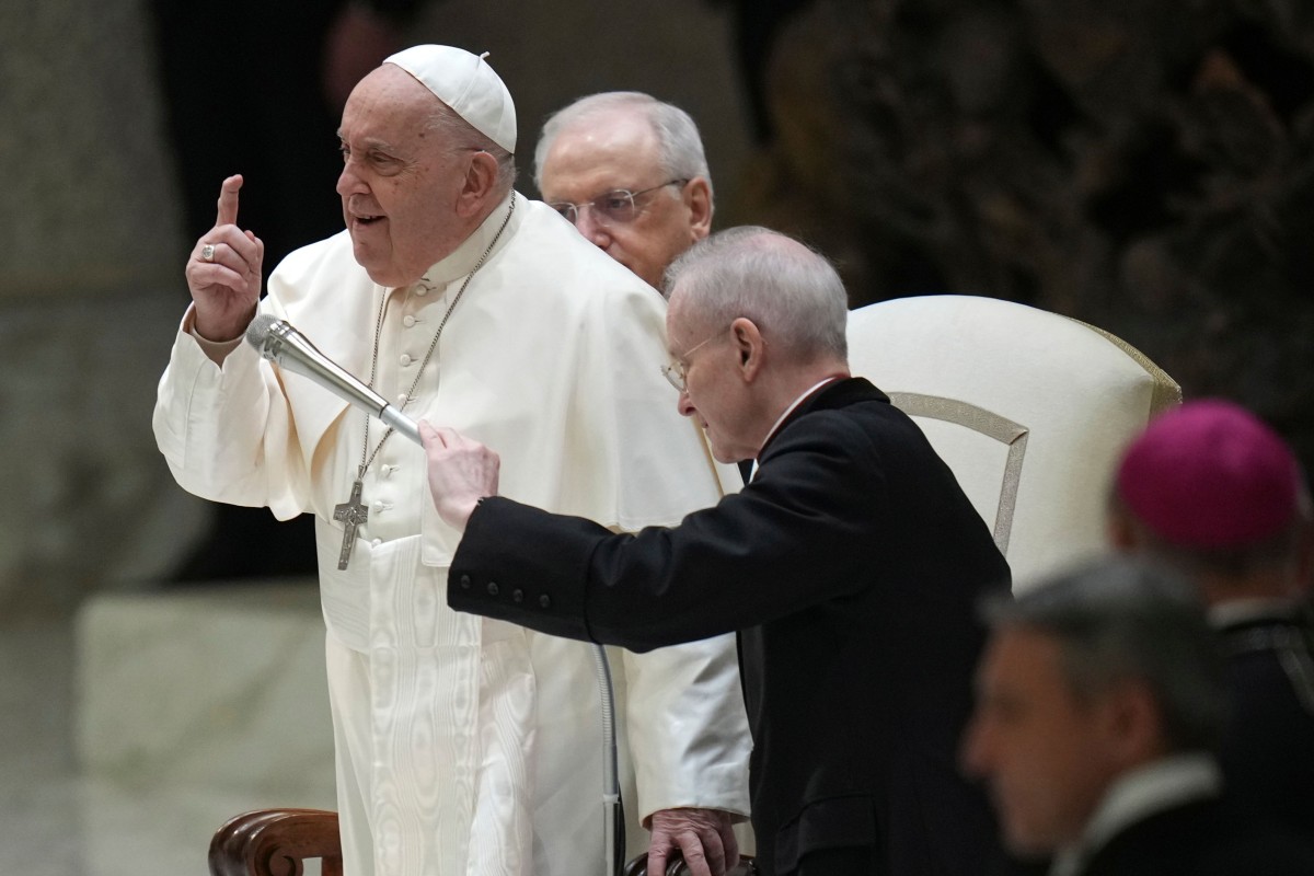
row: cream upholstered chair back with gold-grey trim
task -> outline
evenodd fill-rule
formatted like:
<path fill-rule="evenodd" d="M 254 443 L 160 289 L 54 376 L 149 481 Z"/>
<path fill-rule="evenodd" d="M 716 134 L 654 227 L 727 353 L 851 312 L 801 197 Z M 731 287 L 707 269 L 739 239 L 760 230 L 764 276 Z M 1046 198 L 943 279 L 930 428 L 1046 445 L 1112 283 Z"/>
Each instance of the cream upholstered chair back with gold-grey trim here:
<path fill-rule="evenodd" d="M 1104 548 L 1122 448 L 1181 387 L 1113 335 L 974 296 L 849 314 L 849 364 L 911 415 L 995 533 L 1014 591 Z"/>

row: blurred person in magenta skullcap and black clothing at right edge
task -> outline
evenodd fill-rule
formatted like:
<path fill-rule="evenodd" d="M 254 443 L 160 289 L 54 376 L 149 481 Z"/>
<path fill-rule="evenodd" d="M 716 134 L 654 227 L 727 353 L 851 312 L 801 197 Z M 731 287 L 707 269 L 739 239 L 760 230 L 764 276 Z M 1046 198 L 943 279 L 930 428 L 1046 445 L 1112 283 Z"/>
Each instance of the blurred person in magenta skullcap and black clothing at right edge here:
<path fill-rule="evenodd" d="M 1290 447 L 1244 407 L 1198 399 L 1123 453 L 1113 544 L 1189 579 L 1227 655 L 1227 795 L 1314 842 L 1310 499 Z"/>

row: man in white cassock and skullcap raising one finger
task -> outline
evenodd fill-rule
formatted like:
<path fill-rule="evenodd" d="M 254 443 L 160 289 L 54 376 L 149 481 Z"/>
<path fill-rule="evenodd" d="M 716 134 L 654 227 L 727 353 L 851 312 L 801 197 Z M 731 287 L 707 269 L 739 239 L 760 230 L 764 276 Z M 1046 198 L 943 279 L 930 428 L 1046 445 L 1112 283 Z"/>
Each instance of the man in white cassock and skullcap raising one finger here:
<path fill-rule="evenodd" d="M 481 56 L 388 58 L 338 135 L 347 230 L 289 255 L 259 302 L 263 244 L 237 225 L 242 177 L 223 181 L 187 264 L 156 440 L 197 495 L 315 515 L 348 876 L 599 872 L 593 651 L 449 611 L 460 536 L 420 448 L 240 338 L 258 313 L 294 324 L 407 416 L 503 448 L 510 495 L 616 529 L 712 504 L 735 471 L 666 403 L 661 298 L 512 189 L 515 108 Z M 654 865 L 678 842 L 717 873 L 748 810 L 733 642 L 623 668 L 627 810 L 652 826 Z"/>

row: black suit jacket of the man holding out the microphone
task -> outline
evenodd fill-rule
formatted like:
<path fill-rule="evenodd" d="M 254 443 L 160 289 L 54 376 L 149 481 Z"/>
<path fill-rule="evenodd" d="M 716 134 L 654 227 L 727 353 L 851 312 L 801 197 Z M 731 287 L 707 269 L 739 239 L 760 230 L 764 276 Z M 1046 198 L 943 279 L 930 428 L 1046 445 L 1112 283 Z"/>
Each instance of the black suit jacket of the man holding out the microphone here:
<path fill-rule="evenodd" d="M 984 632 L 1008 594 L 991 535 L 921 429 L 865 380 L 800 405 L 737 495 L 614 535 L 506 499 L 470 516 L 453 608 L 646 650 L 738 632 L 758 859 L 869 844 L 900 876 L 986 872 L 957 767 Z"/>

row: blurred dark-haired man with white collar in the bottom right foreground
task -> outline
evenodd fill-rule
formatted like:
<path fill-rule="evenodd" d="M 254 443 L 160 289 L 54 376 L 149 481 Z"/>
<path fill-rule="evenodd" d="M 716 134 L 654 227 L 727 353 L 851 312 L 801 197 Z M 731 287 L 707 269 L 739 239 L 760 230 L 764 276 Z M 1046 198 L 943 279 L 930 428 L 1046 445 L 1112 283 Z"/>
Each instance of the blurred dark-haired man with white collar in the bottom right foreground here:
<path fill-rule="evenodd" d="M 987 607 L 963 742 L 1009 850 L 1051 876 L 1296 876 L 1314 852 L 1233 805 L 1223 662 L 1185 582 L 1106 559 Z"/>

